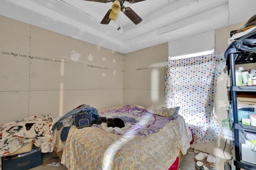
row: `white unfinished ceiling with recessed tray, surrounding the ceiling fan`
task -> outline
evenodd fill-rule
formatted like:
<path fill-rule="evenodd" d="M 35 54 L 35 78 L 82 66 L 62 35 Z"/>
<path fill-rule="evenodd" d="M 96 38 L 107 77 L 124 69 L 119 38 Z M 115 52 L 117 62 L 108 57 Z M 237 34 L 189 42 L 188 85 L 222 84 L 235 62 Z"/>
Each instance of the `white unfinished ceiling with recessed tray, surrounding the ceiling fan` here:
<path fill-rule="evenodd" d="M 84 0 L 0 0 L 0 15 L 126 54 L 246 21 L 256 13 L 256 0 L 145 0 L 124 4 L 143 18 L 142 23 L 134 25 L 120 14 L 116 22 L 100 24 L 111 5 Z"/>

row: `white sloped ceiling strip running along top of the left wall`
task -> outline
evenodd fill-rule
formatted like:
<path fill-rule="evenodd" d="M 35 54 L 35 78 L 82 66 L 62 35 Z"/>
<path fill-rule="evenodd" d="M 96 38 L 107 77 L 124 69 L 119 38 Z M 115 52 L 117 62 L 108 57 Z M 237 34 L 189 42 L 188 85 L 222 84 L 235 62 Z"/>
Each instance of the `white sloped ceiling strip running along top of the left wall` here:
<path fill-rule="evenodd" d="M 26 0 L 26 2 L 31 3 L 29 2 L 29 0 Z M 21 6 L 15 5 L 15 3 L 18 3 Z M 83 40 L 95 45 L 100 45 L 102 47 L 115 51 L 123 47 L 123 43 L 116 38 L 108 36 L 107 34 L 102 34 L 102 32 L 96 31 L 93 28 L 90 28 L 84 24 L 81 25 L 81 23 L 74 20 L 71 20 L 70 23 L 70 18 L 65 17 L 64 15 L 58 15 L 58 19 L 52 19 L 52 17 L 49 16 L 47 12 L 45 12 L 44 7 L 44 11 L 41 13 L 41 6 L 36 6 L 37 8 L 39 7 L 39 10 L 32 9 L 32 11 L 30 11 L 31 8 L 23 8 L 23 4 L 23 2 L 20 3 L 15 0 L 12 0 L 12 3 L 6 0 L 1 0 L 0 15 L 10 17 L 25 23 L 29 23 L 40 28 L 45 28 L 50 31 L 55 31 L 59 34 L 64 34 L 78 40 Z M 10 12 L 10 9 L 15 12 Z M 51 14 L 52 12 L 54 13 L 54 11 L 50 11 Z M 45 16 L 45 14 L 47 15 Z M 65 21 L 68 20 L 69 22 L 63 22 L 63 18 L 66 19 Z M 79 26 L 76 27 L 74 26 L 74 24 L 76 24 L 76 26 Z M 97 34 L 95 34 L 95 31 L 100 35 L 98 36 Z M 91 34 L 91 32 L 93 32 L 93 34 Z M 105 37 L 105 39 L 102 39 L 102 37 Z"/>

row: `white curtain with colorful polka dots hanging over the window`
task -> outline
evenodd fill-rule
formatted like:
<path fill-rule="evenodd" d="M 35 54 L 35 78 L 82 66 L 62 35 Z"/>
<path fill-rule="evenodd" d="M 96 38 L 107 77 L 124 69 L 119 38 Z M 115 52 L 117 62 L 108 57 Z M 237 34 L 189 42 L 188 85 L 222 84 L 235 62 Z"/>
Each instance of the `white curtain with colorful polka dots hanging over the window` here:
<path fill-rule="evenodd" d="M 167 62 L 166 106 L 180 106 L 179 114 L 198 138 L 196 143 L 214 141 L 221 132 L 213 108 L 217 77 L 223 71 L 225 63 L 225 59 L 219 54 Z"/>

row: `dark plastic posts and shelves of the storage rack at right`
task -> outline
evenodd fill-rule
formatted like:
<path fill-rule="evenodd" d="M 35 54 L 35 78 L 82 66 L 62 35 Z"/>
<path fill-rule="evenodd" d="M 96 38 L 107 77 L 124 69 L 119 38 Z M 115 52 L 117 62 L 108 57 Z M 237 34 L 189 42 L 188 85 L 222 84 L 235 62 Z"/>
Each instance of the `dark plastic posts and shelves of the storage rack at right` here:
<path fill-rule="evenodd" d="M 243 55 L 241 55 L 243 54 Z M 241 138 L 242 132 L 256 134 L 256 126 L 241 124 L 241 118 L 239 119 L 238 103 L 241 102 L 241 98 L 244 100 L 241 102 L 255 102 L 256 101 L 256 86 L 236 86 L 236 64 L 241 63 L 253 63 L 256 62 L 255 53 L 250 53 L 250 56 L 246 56 L 248 53 L 234 52 L 228 54 L 227 65 L 228 71 L 230 68 L 231 86 L 227 88 L 230 91 L 230 103 L 232 103 L 233 121 L 230 124 L 233 127 L 233 163 L 236 166 L 236 170 L 241 168 L 244 170 L 256 170 L 256 163 L 254 161 L 255 153 L 250 150 L 247 142 L 244 142 L 244 137 Z M 253 58 L 252 58 L 253 57 Z M 234 85 L 234 86 L 232 86 Z M 253 97 L 254 95 L 254 97 Z M 240 120 L 240 122 L 239 122 Z M 241 139 L 239 139 L 241 138 Z M 251 160 L 253 158 L 253 160 Z"/>

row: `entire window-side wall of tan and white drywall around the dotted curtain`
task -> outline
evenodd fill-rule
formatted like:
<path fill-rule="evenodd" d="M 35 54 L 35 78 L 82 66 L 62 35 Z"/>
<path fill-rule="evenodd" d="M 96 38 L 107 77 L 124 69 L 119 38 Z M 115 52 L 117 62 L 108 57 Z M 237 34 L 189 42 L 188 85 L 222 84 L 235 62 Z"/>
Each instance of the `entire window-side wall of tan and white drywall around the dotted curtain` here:
<path fill-rule="evenodd" d="M 123 92 L 124 105 L 137 104 L 144 107 L 149 107 L 151 105 L 164 106 L 163 67 L 164 62 L 168 60 L 168 51 L 171 50 L 171 56 L 175 56 L 179 54 L 188 54 L 197 51 L 209 50 L 209 48 L 215 48 L 215 53 L 223 54 L 227 48 L 227 39 L 229 38 L 230 31 L 241 28 L 243 25 L 244 22 L 184 39 L 175 40 L 173 42 L 169 42 L 170 46 L 168 43 L 164 43 L 154 47 L 145 48 L 139 51 L 125 54 Z M 196 42 L 196 40 L 200 40 L 201 43 L 199 41 Z M 156 66 L 156 68 L 154 68 L 154 66 Z M 247 67 L 256 68 L 256 65 L 245 65 L 245 68 Z M 158 88 L 152 88 L 152 84 L 155 85 L 153 87 Z M 215 113 L 220 124 L 222 119 L 227 119 L 227 106 L 229 102 L 226 85 L 227 68 L 225 68 L 221 76 L 218 77 L 217 82 Z M 198 150 L 212 153 L 216 156 L 224 158 L 223 148 L 225 141 L 226 140 L 224 140 L 221 135 L 215 142 L 195 144 L 193 147 Z M 231 156 L 229 148 L 230 147 L 228 143 L 225 150 L 225 156 L 227 159 L 230 159 Z"/>

